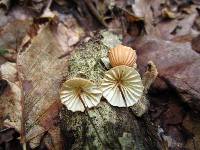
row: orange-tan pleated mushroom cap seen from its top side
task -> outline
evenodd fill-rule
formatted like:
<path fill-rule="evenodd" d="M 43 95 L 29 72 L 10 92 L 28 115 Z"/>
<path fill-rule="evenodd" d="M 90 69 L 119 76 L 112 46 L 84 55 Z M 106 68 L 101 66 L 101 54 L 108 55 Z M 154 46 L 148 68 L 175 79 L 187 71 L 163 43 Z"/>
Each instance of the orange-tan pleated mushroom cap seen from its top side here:
<path fill-rule="evenodd" d="M 108 57 L 112 67 L 126 65 L 133 67 L 136 63 L 136 52 L 130 47 L 118 45 L 115 48 L 111 48 Z"/>

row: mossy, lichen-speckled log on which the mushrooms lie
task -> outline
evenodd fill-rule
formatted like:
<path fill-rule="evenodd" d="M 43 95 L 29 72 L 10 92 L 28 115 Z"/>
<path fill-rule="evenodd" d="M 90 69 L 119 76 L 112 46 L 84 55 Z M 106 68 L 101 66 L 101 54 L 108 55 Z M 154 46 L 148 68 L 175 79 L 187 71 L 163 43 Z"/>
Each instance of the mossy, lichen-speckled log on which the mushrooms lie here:
<path fill-rule="evenodd" d="M 106 59 L 110 47 L 119 43 L 117 36 L 102 32 L 81 44 L 69 60 L 68 78 L 83 77 L 99 85 L 108 69 L 102 59 Z M 102 98 L 97 107 L 87 110 L 89 116 L 63 106 L 61 133 L 65 149 L 160 149 L 157 128 L 148 121 L 148 114 L 137 117 L 148 107 L 144 99 L 145 96 L 139 104 L 127 109 L 113 107 Z"/>

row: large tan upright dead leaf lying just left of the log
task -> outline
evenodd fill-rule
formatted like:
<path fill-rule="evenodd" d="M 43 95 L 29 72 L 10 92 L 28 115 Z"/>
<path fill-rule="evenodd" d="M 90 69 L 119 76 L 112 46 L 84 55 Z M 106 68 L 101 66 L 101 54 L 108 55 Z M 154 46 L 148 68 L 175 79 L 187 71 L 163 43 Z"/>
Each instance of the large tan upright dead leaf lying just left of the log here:
<path fill-rule="evenodd" d="M 25 125 L 25 129 L 22 128 L 24 131 L 21 131 L 21 138 L 25 138 L 24 142 L 29 141 L 33 148 L 39 145 L 45 131 L 55 128 L 53 123 L 49 124 L 54 119 L 49 117 L 54 116 L 49 108 L 57 106 L 55 102 L 59 100 L 58 89 L 67 69 L 67 60 L 59 59 L 63 53 L 47 25 L 40 29 L 31 40 L 30 46 L 23 49 L 17 59 L 24 90 L 22 125 Z M 53 113 L 58 115 L 58 109 Z M 45 122 L 45 119 L 49 121 Z"/>

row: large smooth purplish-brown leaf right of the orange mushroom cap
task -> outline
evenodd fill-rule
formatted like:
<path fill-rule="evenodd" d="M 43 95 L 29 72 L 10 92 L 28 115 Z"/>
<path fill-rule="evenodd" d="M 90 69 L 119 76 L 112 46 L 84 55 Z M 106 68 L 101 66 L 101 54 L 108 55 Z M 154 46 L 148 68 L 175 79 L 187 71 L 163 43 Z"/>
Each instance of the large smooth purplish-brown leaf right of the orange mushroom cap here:
<path fill-rule="evenodd" d="M 170 88 L 175 88 L 193 111 L 200 111 L 200 56 L 189 42 L 177 43 L 147 36 L 138 39 L 134 48 L 140 70 L 145 70 L 143 64 L 148 60 L 155 62 L 159 77 Z"/>

